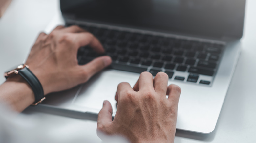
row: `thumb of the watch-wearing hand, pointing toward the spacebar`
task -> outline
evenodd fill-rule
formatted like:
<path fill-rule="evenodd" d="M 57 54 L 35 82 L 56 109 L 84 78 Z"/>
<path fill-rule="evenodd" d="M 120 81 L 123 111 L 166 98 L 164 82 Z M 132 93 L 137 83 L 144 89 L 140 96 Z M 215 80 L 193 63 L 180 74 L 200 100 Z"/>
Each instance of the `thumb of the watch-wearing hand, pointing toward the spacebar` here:
<path fill-rule="evenodd" d="M 97 57 L 86 65 L 80 66 L 86 71 L 86 81 L 90 79 L 94 74 L 103 70 L 105 67 L 109 66 L 112 62 L 110 56 L 101 56 Z M 84 81 L 84 82 L 86 82 Z"/>

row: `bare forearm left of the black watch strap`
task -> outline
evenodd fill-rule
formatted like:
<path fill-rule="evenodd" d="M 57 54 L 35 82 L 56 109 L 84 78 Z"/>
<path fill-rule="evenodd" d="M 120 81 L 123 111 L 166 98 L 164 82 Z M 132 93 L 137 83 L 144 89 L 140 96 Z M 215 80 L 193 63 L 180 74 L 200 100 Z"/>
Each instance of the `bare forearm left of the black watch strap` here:
<path fill-rule="evenodd" d="M 0 85 L 0 102 L 17 112 L 23 111 L 35 100 L 30 85 L 20 76 L 9 77 Z"/>

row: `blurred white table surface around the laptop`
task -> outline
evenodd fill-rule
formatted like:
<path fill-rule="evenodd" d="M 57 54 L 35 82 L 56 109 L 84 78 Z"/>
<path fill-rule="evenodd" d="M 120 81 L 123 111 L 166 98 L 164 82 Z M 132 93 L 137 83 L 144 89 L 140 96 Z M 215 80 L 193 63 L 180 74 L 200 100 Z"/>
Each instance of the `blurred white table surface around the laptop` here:
<path fill-rule="evenodd" d="M 13 0 L 0 18 L 0 73 L 24 61 L 34 40 L 58 11 L 58 0 Z M 256 1 L 247 0 L 242 53 L 226 95 L 216 129 L 211 134 L 177 131 L 175 143 L 256 142 Z M 0 76 L 0 83 L 4 82 Z M 96 135 L 96 121 L 76 113 L 28 108 L 31 118 L 53 137 L 72 135 L 86 142 L 101 142 Z M 71 141 L 72 142 L 72 141 Z"/>

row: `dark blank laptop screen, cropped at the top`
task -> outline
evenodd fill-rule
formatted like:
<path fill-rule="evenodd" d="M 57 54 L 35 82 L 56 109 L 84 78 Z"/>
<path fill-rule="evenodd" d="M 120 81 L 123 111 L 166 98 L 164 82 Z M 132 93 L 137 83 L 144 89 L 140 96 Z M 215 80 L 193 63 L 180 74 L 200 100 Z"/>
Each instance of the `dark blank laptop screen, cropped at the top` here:
<path fill-rule="evenodd" d="M 106 24 L 241 38 L 245 0 L 60 0 L 63 14 Z"/>

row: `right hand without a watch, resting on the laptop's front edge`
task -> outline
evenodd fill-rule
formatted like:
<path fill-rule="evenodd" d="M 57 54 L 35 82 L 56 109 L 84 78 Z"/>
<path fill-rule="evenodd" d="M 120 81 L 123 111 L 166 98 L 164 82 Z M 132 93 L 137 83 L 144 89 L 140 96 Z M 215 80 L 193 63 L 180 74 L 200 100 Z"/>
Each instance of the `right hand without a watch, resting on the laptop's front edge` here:
<path fill-rule="evenodd" d="M 174 142 L 180 87 L 168 84 L 168 75 L 155 78 L 142 72 L 132 88 L 128 83 L 117 87 L 117 112 L 112 121 L 112 107 L 104 101 L 98 114 L 97 134 L 123 135 L 131 142 Z M 166 95 L 169 95 L 166 99 Z"/>

